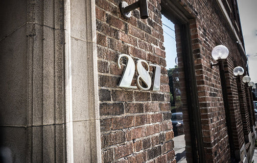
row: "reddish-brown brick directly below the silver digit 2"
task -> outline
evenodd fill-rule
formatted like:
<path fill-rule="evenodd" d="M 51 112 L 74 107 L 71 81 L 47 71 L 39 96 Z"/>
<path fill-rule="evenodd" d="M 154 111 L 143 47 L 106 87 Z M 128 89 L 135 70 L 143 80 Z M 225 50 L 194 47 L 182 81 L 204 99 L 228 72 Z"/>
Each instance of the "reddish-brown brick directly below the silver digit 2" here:
<path fill-rule="evenodd" d="M 111 92 L 111 96 L 113 101 L 132 101 L 133 100 L 132 91 L 113 90 Z"/>

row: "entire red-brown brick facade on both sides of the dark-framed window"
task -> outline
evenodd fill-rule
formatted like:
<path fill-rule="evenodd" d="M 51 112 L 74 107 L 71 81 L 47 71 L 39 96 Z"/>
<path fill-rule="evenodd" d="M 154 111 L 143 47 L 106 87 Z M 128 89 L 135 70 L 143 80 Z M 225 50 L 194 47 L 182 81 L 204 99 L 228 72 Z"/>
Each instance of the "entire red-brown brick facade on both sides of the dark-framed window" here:
<path fill-rule="evenodd" d="M 132 4 L 135 1 L 127 1 Z M 245 67 L 246 60 L 221 14 L 216 1 L 179 1 L 181 7 L 195 19 L 189 21 L 194 57 L 197 92 L 201 113 L 204 155 L 206 162 L 229 162 L 230 147 L 226 126 L 225 108 L 218 67 L 211 68 L 212 49 L 223 44 L 229 49 L 229 57 L 224 64 L 227 97 L 229 101 L 232 141 L 235 150 L 244 143 L 244 132 L 248 132 L 247 113 L 240 111 L 236 80 L 232 70 L 236 66 Z M 148 1 L 148 19 L 140 19 L 139 11 L 125 19 L 119 10 L 119 1 L 97 0 L 97 44 L 101 141 L 103 162 L 170 162 L 174 161 L 174 142 L 170 121 L 169 86 L 165 69 L 165 51 L 162 45 L 160 1 Z M 180 30 L 175 26 L 179 77 L 181 92 L 185 93 Z M 118 69 L 116 61 L 121 53 L 130 55 L 134 61 L 146 60 L 161 66 L 161 90 L 142 91 L 119 88 L 123 69 Z M 151 74 L 153 69 L 150 69 Z M 135 80 L 132 85 L 135 86 Z M 188 161 L 192 161 L 192 147 L 187 113 L 186 94 L 182 94 L 184 132 Z M 246 100 L 243 100 L 243 103 Z M 242 107 L 241 103 L 241 107 Z M 241 114 L 242 113 L 242 114 Z M 249 120 L 248 120 L 249 121 Z M 244 126 L 244 127 L 243 127 Z M 243 130 L 244 128 L 244 130 Z M 247 129 L 246 129 L 247 128 Z M 244 132 L 243 132 L 244 131 Z"/>

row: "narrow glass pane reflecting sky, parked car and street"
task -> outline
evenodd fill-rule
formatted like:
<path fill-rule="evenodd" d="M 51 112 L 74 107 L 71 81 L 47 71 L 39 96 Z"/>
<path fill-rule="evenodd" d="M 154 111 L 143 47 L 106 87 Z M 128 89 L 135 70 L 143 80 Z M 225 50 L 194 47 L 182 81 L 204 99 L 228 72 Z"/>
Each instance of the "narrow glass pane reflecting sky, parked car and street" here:
<path fill-rule="evenodd" d="M 183 129 L 183 112 L 182 112 L 182 101 L 181 91 L 179 84 L 179 66 L 175 39 L 175 25 L 164 15 L 161 16 L 162 29 L 166 52 L 166 63 L 169 77 L 170 87 L 170 103 L 171 103 L 171 120 L 174 132 L 174 150 L 175 159 L 177 162 L 186 162 L 185 157 L 185 140 L 184 140 L 184 129 Z"/>

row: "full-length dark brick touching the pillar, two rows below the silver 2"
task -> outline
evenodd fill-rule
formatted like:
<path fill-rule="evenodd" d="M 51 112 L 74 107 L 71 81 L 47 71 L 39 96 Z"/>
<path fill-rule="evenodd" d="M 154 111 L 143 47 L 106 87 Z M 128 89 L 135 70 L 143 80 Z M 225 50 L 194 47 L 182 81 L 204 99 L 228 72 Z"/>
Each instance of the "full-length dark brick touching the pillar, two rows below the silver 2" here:
<path fill-rule="evenodd" d="M 123 103 L 101 103 L 99 105 L 100 116 L 121 115 L 124 113 Z"/>

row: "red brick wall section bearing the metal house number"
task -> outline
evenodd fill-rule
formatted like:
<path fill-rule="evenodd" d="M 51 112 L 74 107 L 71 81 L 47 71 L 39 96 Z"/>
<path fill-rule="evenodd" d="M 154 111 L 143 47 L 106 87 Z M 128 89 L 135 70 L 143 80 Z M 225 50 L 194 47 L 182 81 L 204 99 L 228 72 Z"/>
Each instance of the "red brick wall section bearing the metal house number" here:
<path fill-rule="evenodd" d="M 150 17 L 143 20 L 138 10 L 130 19 L 121 16 L 118 1 L 96 1 L 103 162 L 174 161 L 159 3 L 148 2 Z M 122 53 L 161 66 L 160 91 L 119 88 L 124 66 L 116 62 Z"/>

